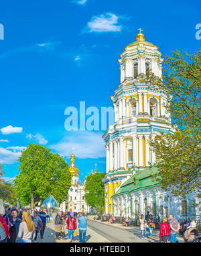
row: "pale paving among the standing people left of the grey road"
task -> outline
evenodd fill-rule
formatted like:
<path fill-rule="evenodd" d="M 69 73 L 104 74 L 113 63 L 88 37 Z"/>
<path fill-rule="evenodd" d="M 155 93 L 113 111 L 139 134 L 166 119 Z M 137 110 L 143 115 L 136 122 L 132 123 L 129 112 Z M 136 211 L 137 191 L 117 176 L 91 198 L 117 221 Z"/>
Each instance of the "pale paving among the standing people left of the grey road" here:
<path fill-rule="evenodd" d="M 68 243 L 68 230 L 66 229 L 66 226 L 64 226 L 65 230 L 65 237 L 62 239 L 55 240 L 55 231 L 54 231 L 54 224 L 51 222 L 48 222 L 46 224 L 46 230 L 44 233 L 44 238 L 40 238 L 40 234 L 38 234 L 37 241 L 34 243 Z M 86 230 L 86 243 L 110 243 L 109 240 L 105 239 L 105 237 L 102 237 L 100 234 L 97 234 L 90 228 L 87 228 Z M 75 237 L 74 242 L 72 243 L 80 243 L 78 235 Z"/>

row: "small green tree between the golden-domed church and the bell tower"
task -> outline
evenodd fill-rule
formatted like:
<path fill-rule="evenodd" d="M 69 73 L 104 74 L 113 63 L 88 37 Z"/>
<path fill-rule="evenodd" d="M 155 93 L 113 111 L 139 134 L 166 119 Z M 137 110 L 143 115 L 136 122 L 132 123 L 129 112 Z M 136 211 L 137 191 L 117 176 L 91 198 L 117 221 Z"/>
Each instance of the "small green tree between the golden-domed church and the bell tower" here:
<path fill-rule="evenodd" d="M 105 187 L 102 181 L 105 173 L 90 174 L 85 182 L 85 200 L 91 207 L 104 206 Z"/>

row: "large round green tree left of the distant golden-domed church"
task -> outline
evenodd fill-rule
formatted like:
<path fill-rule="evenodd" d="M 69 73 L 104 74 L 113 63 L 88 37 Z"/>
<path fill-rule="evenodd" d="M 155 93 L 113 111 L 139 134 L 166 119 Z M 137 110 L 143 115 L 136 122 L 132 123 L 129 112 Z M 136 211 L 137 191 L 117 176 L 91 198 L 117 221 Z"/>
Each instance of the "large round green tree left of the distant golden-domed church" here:
<path fill-rule="evenodd" d="M 23 204 L 36 206 L 47 196 L 58 203 L 66 199 L 72 175 L 63 157 L 38 144 L 29 144 L 19 157 L 19 175 L 15 179 L 17 198 Z"/>

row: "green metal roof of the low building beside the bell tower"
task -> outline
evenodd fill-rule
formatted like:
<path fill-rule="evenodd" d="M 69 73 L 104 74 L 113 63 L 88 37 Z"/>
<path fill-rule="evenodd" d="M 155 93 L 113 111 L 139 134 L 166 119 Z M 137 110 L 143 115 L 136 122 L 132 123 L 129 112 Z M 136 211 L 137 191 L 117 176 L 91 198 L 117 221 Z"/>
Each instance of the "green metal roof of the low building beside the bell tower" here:
<path fill-rule="evenodd" d="M 144 189 L 146 187 L 159 185 L 157 181 L 153 181 L 153 179 L 151 178 L 151 174 L 155 174 L 157 172 L 157 167 L 151 167 L 133 174 L 127 181 L 125 181 L 125 183 L 123 183 L 123 185 L 121 185 L 121 187 L 112 197 L 115 197 L 119 194 L 125 194 L 131 191 Z M 135 185 L 133 182 L 134 178 Z"/>

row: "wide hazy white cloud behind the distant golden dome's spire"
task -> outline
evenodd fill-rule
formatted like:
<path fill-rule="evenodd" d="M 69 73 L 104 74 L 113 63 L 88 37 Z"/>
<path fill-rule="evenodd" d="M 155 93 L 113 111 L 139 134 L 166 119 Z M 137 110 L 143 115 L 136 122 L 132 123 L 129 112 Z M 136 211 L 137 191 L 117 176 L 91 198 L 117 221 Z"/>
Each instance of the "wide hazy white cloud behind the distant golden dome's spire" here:
<path fill-rule="evenodd" d="M 103 134 L 88 131 L 68 132 L 57 144 L 49 146 L 59 155 L 70 158 L 72 154 L 72 146 L 74 147 L 74 155 L 80 159 L 97 159 L 105 157 L 105 142 L 102 138 Z"/>

